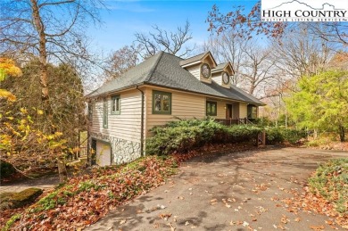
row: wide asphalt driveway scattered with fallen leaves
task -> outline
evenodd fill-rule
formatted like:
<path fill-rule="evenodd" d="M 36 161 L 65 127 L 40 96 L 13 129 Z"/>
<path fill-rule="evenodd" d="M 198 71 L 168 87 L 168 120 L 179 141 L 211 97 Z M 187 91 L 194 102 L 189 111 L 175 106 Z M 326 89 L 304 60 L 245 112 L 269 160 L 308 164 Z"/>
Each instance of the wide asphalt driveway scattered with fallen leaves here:
<path fill-rule="evenodd" d="M 178 175 L 87 230 L 311 230 L 330 218 L 289 211 L 319 162 L 347 152 L 267 148 L 195 158 Z M 341 227 L 337 227 L 342 230 Z"/>

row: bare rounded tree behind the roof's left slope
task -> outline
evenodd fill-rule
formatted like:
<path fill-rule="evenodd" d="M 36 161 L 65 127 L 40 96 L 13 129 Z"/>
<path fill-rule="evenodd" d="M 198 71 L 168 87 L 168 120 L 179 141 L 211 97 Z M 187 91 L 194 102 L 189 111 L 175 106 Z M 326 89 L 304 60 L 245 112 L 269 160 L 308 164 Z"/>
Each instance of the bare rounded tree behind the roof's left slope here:
<path fill-rule="evenodd" d="M 125 45 L 113 52 L 106 63 L 106 80 L 118 78 L 130 68 L 136 66 L 140 60 L 138 57 L 139 50 L 139 45 Z"/>

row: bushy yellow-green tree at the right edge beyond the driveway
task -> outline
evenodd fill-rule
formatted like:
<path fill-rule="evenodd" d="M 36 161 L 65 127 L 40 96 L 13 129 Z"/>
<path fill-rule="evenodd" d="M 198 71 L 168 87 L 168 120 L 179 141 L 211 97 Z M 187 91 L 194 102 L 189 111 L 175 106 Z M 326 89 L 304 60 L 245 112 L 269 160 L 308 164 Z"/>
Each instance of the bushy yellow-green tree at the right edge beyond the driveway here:
<path fill-rule="evenodd" d="M 343 142 L 348 128 L 348 72 L 330 70 L 302 77 L 298 87 L 299 91 L 286 99 L 297 126 L 335 131 Z"/>

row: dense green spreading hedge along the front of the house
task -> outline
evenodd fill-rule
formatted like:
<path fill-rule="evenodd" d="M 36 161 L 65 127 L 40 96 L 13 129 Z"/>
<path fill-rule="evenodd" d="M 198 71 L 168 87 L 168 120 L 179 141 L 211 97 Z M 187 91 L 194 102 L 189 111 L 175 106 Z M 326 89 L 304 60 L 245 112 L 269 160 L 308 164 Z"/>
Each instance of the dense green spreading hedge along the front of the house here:
<path fill-rule="evenodd" d="M 250 142 L 261 132 L 255 126 L 226 127 L 213 119 L 171 121 L 151 129 L 153 137 L 146 141 L 146 153 L 167 155 L 185 153 L 203 144 Z"/>

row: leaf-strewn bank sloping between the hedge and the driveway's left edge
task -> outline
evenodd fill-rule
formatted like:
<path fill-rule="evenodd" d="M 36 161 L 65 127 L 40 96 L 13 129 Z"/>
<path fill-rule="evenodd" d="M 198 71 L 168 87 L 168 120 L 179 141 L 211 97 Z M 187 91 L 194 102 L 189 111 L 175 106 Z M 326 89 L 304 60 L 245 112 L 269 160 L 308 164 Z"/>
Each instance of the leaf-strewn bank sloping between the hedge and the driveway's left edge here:
<path fill-rule="evenodd" d="M 1 227 L 21 230 L 69 230 L 95 223 L 110 210 L 151 188 L 161 186 L 176 173 L 178 164 L 204 152 L 250 149 L 250 145 L 211 145 L 191 153 L 170 157 L 147 156 L 123 166 L 93 169 L 91 174 L 72 177 L 47 192 L 33 205 L 7 210 Z M 7 221 L 7 223 L 6 223 Z"/>

